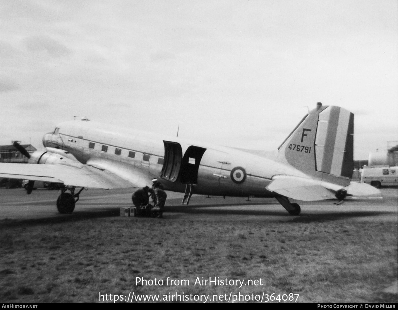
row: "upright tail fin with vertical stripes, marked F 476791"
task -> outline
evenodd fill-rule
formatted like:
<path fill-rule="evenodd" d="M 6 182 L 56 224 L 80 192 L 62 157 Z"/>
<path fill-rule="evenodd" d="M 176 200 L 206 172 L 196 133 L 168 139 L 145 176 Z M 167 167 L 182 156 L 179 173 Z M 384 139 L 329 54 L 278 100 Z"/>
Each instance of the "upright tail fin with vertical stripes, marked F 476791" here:
<path fill-rule="evenodd" d="M 353 134 L 353 113 L 317 103 L 279 146 L 278 159 L 317 179 L 346 183 L 353 172 Z"/>

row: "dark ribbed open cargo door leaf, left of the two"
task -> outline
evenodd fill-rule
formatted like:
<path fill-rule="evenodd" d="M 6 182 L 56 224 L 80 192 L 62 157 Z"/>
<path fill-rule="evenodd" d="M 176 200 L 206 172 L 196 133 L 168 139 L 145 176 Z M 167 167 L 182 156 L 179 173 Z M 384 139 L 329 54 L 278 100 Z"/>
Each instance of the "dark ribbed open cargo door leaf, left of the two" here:
<path fill-rule="evenodd" d="M 183 161 L 181 145 L 177 142 L 163 141 L 164 162 L 160 177 L 170 182 L 177 181 L 178 173 Z"/>

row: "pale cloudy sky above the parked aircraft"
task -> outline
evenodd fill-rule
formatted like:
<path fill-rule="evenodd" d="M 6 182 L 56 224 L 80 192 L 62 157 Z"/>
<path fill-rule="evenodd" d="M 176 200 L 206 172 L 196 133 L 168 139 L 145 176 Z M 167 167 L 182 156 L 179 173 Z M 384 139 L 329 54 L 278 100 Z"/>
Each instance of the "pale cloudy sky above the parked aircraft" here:
<path fill-rule="evenodd" d="M 0 0 L 0 144 L 89 119 L 272 150 L 320 101 L 398 140 L 396 0 Z"/>

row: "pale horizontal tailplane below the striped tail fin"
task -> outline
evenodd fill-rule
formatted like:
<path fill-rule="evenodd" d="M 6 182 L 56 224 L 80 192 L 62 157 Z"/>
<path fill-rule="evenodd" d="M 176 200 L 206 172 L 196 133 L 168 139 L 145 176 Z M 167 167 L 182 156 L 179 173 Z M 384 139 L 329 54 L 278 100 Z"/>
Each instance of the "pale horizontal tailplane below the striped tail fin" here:
<path fill-rule="evenodd" d="M 350 185 L 342 187 L 334 183 L 291 175 L 275 175 L 266 189 L 303 201 L 334 199 L 339 189 L 347 190 L 347 195 L 369 196 L 380 194 L 378 189 L 365 183 L 351 182 Z"/>

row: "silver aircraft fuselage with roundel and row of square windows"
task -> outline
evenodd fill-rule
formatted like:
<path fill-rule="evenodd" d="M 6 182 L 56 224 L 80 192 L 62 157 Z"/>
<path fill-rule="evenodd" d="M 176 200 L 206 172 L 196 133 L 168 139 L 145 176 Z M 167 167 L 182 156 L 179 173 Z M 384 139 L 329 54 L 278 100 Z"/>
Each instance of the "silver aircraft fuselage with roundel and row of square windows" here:
<path fill-rule="evenodd" d="M 274 175 L 306 177 L 290 165 L 234 148 L 92 121 L 61 123 L 43 137 L 43 145 L 65 150 L 82 164 L 107 167 L 126 182 L 144 186 L 158 178 L 166 190 L 178 192 L 192 184 L 196 194 L 274 197 L 265 189 Z"/>

